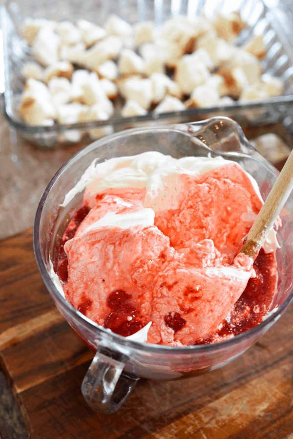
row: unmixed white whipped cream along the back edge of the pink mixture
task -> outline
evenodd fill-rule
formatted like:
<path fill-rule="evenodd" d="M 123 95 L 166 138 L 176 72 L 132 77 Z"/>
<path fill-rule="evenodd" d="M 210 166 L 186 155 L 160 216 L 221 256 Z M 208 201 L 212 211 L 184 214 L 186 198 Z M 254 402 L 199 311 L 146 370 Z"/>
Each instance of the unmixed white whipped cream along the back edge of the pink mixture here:
<path fill-rule="evenodd" d="M 114 157 L 102 163 L 97 163 L 97 159 L 95 159 L 86 169 L 81 179 L 65 195 L 61 207 L 66 207 L 76 194 L 82 192 L 97 177 L 100 177 L 100 179 L 95 182 L 96 193 L 111 187 L 146 187 L 148 191 L 156 193 L 161 187 L 163 176 L 201 175 L 226 163 L 234 163 L 240 167 L 238 163 L 223 159 L 221 156 L 213 158 L 210 156 L 183 157 L 177 160 L 157 151 L 147 151 L 129 157 Z M 263 202 L 256 181 L 250 174 L 246 173 L 246 175 L 249 177 L 257 196 Z M 122 226 L 119 225 L 119 227 Z M 280 248 L 274 229 L 267 236 L 263 248 L 266 253 Z"/>

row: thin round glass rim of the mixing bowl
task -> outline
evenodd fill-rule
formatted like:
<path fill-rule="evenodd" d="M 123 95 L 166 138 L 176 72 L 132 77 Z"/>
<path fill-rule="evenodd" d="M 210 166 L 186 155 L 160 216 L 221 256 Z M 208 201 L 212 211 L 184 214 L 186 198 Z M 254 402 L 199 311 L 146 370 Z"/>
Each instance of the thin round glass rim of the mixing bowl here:
<path fill-rule="evenodd" d="M 223 117 L 221 119 L 228 119 L 228 118 Z M 233 120 L 232 120 L 232 122 L 234 124 L 238 125 Z M 179 125 L 182 125 L 182 124 L 179 124 Z M 186 125 L 188 125 L 188 123 Z M 160 125 L 160 126 L 153 126 L 152 127 L 152 131 L 162 131 L 162 130 L 176 131 L 174 129 L 174 125 L 173 126 L 172 125 Z M 226 346 L 228 347 L 230 345 L 237 345 L 238 342 L 244 341 L 247 338 L 253 338 L 253 336 L 256 335 L 258 332 L 261 333 L 263 328 L 270 325 L 270 323 L 273 322 L 273 320 L 281 317 L 281 315 L 285 312 L 286 308 L 293 301 L 293 290 L 291 291 L 291 293 L 289 294 L 287 299 L 285 299 L 284 302 L 280 306 L 278 306 L 277 310 L 274 313 L 272 313 L 272 315 L 267 317 L 264 321 L 259 323 L 257 326 L 254 326 L 253 328 L 249 329 L 248 331 L 245 331 L 241 334 L 236 335 L 232 339 L 223 340 L 223 341 L 219 341 L 217 343 L 206 344 L 206 345 L 191 345 L 191 346 L 178 346 L 178 347 L 176 346 L 176 347 L 174 347 L 174 346 L 164 346 L 164 345 L 128 340 L 125 337 L 120 336 L 119 334 L 115 334 L 114 332 L 105 329 L 103 326 L 100 326 L 99 324 L 95 323 L 91 319 L 88 319 L 82 313 L 77 311 L 65 298 L 62 297 L 62 295 L 58 292 L 56 286 L 54 285 L 54 282 L 50 278 L 48 270 L 45 266 L 45 262 L 42 258 L 39 236 L 40 236 L 40 220 L 42 217 L 42 209 L 43 209 L 45 201 L 50 193 L 51 188 L 53 187 L 55 182 L 58 180 L 58 178 L 62 175 L 63 170 L 68 166 L 68 164 L 71 161 L 79 160 L 80 156 L 84 156 L 85 150 L 95 149 L 97 146 L 101 146 L 100 144 L 102 144 L 103 142 L 105 142 L 105 141 L 108 142 L 109 140 L 114 140 L 116 137 L 121 137 L 122 134 L 125 136 L 128 136 L 131 134 L 139 134 L 141 131 L 149 132 L 150 127 L 147 126 L 147 127 L 131 128 L 131 129 L 120 131 L 118 133 L 114 133 L 114 134 L 109 135 L 109 136 L 105 136 L 102 139 L 95 140 L 94 142 L 85 146 L 81 151 L 77 152 L 69 160 L 67 160 L 63 164 L 63 166 L 61 166 L 61 168 L 56 172 L 56 174 L 52 177 L 52 179 L 48 183 L 47 187 L 45 188 L 45 190 L 42 194 L 42 198 L 39 202 L 37 211 L 36 211 L 36 216 L 35 216 L 35 221 L 34 221 L 34 229 L 33 229 L 33 244 L 34 244 L 34 252 L 35 252 L 37 265 L 38 265 L 38 268 L 40 270 L 42 279 L 45 283 L 45 286 L 48 289 L 49 294 L 51 296 L 53 296 L 54 301 L 56 299 L 57 301 L 61 302 L 62 305 L 65 305 L 65 308 L 68 309 L 71 313 L 73 313 L 74 317 L 78 321 L 81 320 L 81 322 L 83 324 L 85 324 L 90 330 L 94 329 L 96 331 L 98 329 L 103 334 L 105 334 L 107 337 L 110 337 L 112 339 L 112 342 L 114 342 L 114 343 L 118 343 L 118 344 L 121 344 L 125 347 L 130 347 L 130 348 L 136 349 L 136 350 L 143 350 L 145 352 L 152 353 L 152 354 L 156 354 L 156 353 L 157 354 L 172 354 L 172 353 L 175 353 L 175 354 L 181 354 L 181 355 L 182 354 L 188 355 L 188 354 L 196 354 L 197 352 L 198 353 L 216 352 L 216 351 L 222 350 Z M 188 136 L 187 132 L 184 132 L 182 130 L 179 130 L 179 131 Z M 240 135 L 239 136 L 240 141 L 241 142 L 244 141 L 244 143 L 247 143 L 248 141 L 247 140 L 245 141 L 245 138 L 242 140 L 244 135 L 243 135 L 243 133 L 241 134 L 241 131 L 239 132 L 239 130 L 238 130 L 238 134 Z M 192 137 L 190 134 L 189 134 L 189 136 Z M 243 153 L 243 154 L 250 157 L 249 154 L 245 154 L 245 153 Z M 255 159 L 257 159 L 257 158 L 255 158 Z M 268 166 L 266 164 L 266 162 L 263 162 L 263 165 L 266 166 L 271 171 L 272 171 L 272 169 L 275 169 L 271 165 L 271 163 L 269 163 L 269 165 L 271 165 L 271 166 Z M 278 171 L 276 171 L 276 172 L 278 173 Z"/>

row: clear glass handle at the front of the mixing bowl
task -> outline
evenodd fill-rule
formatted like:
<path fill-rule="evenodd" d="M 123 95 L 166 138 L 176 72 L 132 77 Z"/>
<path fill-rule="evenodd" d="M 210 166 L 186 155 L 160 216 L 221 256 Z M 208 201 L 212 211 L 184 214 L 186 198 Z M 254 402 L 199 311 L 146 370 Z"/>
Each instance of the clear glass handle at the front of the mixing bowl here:
<path fill-rule="evenodd" d="M 126 360 L 126 355 L 105 347 L 97 350 L 81 387 L 86 403 L 96 412 L 116 412 L 139 380 L 123 370 Z"/>

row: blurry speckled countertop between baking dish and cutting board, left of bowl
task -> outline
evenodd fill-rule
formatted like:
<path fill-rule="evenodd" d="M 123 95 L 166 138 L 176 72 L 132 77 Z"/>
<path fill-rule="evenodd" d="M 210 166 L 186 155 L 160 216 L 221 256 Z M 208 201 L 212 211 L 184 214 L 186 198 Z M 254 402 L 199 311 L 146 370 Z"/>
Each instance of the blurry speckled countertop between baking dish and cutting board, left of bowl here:
<path fill-rule="evenodd" d="M 0 115 L 0 239 L 33 225 L 46 185 L 84 146 L 41 150 L 22 141 Z"/>

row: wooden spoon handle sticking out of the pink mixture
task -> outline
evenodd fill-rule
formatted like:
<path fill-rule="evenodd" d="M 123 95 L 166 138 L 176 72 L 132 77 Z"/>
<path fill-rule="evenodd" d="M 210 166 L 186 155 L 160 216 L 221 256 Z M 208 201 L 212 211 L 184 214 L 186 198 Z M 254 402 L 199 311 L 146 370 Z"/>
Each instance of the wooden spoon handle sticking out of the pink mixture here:
<path fill-rule="evenodd" d="M 264 205 L 254 221 L 241 253 L 255 259 L 268 233 L 293 190 L 293 151 L 272 186 Z"/>

